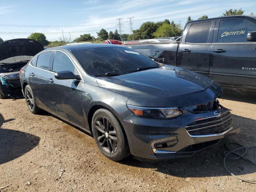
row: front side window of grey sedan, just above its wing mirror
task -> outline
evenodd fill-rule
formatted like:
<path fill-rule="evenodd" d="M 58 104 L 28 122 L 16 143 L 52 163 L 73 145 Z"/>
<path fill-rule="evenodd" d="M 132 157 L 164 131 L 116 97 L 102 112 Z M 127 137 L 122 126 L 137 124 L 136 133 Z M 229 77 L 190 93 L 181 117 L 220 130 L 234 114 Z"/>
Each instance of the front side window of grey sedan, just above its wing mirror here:
<path fill-rule="evenodd" d="M 70 58 L 68 58 L 66 54 L 60 51 L 56 51 L 55 53 L 53 65 L 52 65 L 52 71 L 53 72 L 71 71 L 75 75 L 78 74 Z"/>

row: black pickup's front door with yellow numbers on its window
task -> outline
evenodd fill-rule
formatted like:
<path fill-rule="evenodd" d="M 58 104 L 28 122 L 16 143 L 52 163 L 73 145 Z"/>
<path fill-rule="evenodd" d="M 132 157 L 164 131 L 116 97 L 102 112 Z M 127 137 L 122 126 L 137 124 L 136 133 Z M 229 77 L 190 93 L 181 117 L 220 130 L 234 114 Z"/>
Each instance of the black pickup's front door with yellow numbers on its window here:
<path fill-rule="evenodd" d="M 211 47 L 210 78 L 224 84 L 256 86 L 256 42 L 246 40 L 256 31 L 256 20 L 221 18 Z"/>

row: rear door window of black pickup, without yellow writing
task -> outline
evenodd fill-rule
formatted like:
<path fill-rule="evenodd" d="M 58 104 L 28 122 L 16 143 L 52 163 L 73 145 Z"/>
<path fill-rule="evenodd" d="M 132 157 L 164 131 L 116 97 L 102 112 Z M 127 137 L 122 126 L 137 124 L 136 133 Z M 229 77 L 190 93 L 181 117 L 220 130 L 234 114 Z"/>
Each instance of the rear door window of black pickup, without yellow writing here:
<path fill-rule="evenodd" d="M 195 23 L 190 26 L 188 43 L 207 43 L 212 22 Z"/>

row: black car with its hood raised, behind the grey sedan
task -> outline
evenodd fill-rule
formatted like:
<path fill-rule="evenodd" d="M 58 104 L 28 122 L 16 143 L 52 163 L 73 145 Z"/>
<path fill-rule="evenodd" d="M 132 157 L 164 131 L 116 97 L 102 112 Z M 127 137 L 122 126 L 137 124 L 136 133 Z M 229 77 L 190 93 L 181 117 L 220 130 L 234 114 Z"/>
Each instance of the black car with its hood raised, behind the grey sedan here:
<path fill-rule="evenodd" d="M 0 44 L 0 98 L 22 97 L 19 71 L 44 47 L 32 39 L 12 39 Z"/>

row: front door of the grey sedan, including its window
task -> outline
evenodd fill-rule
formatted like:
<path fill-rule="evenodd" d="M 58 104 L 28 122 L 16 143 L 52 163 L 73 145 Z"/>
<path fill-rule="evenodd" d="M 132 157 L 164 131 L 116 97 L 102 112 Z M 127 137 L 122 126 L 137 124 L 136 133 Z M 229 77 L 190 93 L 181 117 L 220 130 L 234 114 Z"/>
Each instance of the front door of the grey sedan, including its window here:
<path fill-rule="evenodd" d="M 59 80 L 54 77 L 55 72 L 71 71 L 78 74 L 70 57 L 61 51 L 56 51 L 50 74 L 50 110 L 56 115 L 84 127 L 84 113 L 82 100 L 82 87 L 84 82 L 76 79 Z"/>

